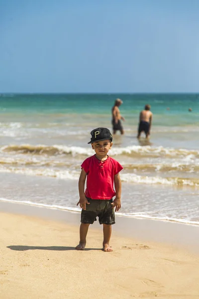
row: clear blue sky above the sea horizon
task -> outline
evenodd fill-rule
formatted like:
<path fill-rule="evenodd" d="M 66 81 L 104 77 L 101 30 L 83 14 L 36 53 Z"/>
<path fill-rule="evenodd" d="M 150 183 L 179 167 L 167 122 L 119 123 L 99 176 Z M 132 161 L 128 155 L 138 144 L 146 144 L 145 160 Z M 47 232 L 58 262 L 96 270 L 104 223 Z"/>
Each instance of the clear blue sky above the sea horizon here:
<path fill-rule="evenodd" d="M 199 1 L 0 0 L 0 92 L 199 92 Z"/>

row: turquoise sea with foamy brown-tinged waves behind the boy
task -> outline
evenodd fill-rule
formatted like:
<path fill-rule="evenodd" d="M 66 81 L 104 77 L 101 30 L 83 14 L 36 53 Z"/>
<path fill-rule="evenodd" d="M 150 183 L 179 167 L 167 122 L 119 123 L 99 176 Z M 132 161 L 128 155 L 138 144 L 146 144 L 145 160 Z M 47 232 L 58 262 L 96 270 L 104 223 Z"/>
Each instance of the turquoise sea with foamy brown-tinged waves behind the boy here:
<path fill-rule="evenodd" d="M 0 200 L 80 212 L 90 132 L 111 130 L 115 98 L 125 118 L 109 151 L 124 167 L 117 214 L 199 225 L 199 94 L 1 94 Z M 145 104 L 151 137 L 138 141 Z"/>

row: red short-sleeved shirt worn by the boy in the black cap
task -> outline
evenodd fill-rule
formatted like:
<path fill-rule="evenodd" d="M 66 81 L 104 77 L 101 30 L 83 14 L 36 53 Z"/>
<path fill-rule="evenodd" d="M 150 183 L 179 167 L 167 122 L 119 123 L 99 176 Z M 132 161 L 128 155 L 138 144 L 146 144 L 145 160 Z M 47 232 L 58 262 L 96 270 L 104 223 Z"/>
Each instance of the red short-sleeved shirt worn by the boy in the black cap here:
<path fill-rule="evenodd" d="M 114 175 L 123 169 L 119 162 L 109 156 L 105 161 L 100 161 L 93 155 L 84 160 L 81 167 L 87 173 L 87 197 L 111 199 L 116 194 L 113 189 Z"/>

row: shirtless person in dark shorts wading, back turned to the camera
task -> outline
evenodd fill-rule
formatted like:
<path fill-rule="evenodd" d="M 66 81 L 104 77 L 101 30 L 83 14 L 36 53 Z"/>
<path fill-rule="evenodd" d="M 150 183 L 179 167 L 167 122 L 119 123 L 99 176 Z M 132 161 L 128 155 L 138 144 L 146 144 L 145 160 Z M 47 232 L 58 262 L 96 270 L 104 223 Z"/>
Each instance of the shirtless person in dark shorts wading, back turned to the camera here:
<path fill-rule="evenodd" d="M 137 138 L 140 138 L 142 132 L 145 133 L 146 138 L 149 138 L 153 117 L 153 113 L 150 111 L 150 109 L 151 106 L 147 104 L 145 105 L 145 110 L 140 112 Z"/>

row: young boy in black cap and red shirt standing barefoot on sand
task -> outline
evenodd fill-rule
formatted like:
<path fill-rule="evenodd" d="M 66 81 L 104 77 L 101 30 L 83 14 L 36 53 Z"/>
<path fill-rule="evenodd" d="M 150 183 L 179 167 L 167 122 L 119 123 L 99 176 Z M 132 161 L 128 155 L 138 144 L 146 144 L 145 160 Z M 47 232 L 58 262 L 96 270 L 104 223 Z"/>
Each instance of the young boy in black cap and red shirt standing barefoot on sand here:
<path fill-rule="evenodd" d="M 106 128 L 97 128 L 91 132 L 92 149 L 95 154 L 82 163 L 82 171 L 79 178 L 80 204 L 82 208 L 80 225 L 80 243 L 77 250 L 84 250 L 89 225 L 99 217 L 103 224 L 103 251 L 112 251 L 109 245 L 111 237 L 111 225 L 115 223 L 115 211 L 121 207 L 121 180 L 119 171 L 123 167 L 113 158 L 107 155 L 112 147 L 112 135 Z M 85 181 L 87 178 L 87 188 Z M 113 183 L 115 191 L 113 189 Z M 115 199 L 112 200 L 112 197 Z"/>

